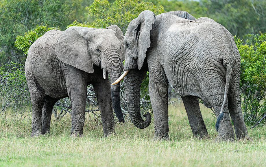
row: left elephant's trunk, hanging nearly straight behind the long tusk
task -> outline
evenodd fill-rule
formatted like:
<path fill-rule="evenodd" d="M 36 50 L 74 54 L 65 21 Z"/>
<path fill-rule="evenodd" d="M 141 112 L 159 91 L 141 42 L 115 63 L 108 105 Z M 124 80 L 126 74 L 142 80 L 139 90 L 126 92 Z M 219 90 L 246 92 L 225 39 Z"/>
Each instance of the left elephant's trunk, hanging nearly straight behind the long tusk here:
<path fill-rule="evenodd" d="M 123 71 L 123 65 L 121 64 L 121 59 L 118 53 L 109 54 L 109 59 L 107 62 L 107 71 L 110 75 L 110 83 L 113 83 L 117 78 L 120 77 L 121 72 Z M 111 85 L 111 97 L 114 112 L 117 115 L 119 122 L 125 122 L 125 119 L 122 115 L 121 106 L 120 106 L 120 84 Z"/>

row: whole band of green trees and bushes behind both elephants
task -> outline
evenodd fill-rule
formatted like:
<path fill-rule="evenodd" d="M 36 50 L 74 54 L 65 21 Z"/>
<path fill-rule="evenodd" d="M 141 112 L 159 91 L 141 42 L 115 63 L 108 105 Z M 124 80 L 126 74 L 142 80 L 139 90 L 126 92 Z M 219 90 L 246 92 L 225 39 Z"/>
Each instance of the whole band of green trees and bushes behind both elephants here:
<path fill-rule="evenodd" d="M 235 35 L 241 55 L 240 86 L 245 120 L 254 122 L 266 112 L 265 0 L 0 0 L 0 100 L 3 106 L 17 103 L 16 97 L 28 94 L 24 89 L 27 88 L 25 77 L 21 77 L 21 65 L 13 64 L 15 68 L 10 70 L 11 66 L 4 64 L 24 64 L 28 48 L 46 31 L 65 30 L 73 25 L 105 28 L 117 24 L 125 33 L 130 20 L 143 10 L 152 10 L 155 14 L 184 10 L 195 18 L 209 17 L 222 24 Z M 14 77 L 16 74 L 19 77 Z M 12 81 L 21 84 L 15 88 Z M 147 83 L 148 77 L 143 81 L 141 96 L 148 93 Z M 16 92 L 20 90 L 22 97 Z M 0 116 L 3 111 L 0 111 Z"/>

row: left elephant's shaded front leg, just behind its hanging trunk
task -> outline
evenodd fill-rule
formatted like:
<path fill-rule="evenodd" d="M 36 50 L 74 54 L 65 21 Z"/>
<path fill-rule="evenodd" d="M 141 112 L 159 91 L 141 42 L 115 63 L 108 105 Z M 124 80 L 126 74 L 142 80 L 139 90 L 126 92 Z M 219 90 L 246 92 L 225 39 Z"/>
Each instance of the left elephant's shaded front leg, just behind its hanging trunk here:
<path fill-rule="evenodd" d="M 104 137 L 107 137 L 108 135 L 114 133 L 114 112 L 112 107 L 111 89 L 108 78 L 99 78 L 101 81 L 94 83 L 93 88 L 99 103 Z"/>

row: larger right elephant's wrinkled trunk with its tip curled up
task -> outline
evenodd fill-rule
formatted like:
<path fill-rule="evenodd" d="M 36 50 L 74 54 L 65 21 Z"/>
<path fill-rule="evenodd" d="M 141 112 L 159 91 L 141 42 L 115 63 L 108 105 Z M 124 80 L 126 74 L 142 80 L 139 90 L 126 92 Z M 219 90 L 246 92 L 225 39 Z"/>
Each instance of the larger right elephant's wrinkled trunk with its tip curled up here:
<path fill-rule="evenodd" d="M 150 113 L 144 114 L 144 121 L 140 113 L 140 86 L 143 78 L 143 73 L 130 70 L 125 77 L 125 92 L 127 97 L 128 113 L 132 123 L 140 129 L 147 128 L 151 123 Z"/>

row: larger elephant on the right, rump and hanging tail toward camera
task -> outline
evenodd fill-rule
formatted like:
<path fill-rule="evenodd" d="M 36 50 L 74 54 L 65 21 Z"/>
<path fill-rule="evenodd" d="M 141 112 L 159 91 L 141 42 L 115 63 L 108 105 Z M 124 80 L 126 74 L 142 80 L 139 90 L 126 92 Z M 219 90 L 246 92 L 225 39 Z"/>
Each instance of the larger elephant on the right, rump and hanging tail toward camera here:
<path fill-rule="evenodd" d="M 214 108 L 216 117 L 221 110 L 224 113 L 216 140 L 234 139 L 229 113 L 237 138 L 247 137 L 239 93 L 240 56 L 234 38 L 222 25 L 183 11 L 155 17 L 146 10 L 130 22 L 124 44 L 124 71 L 130 70 L 125 77 L 127 105 L 137 128 L 151 122 L 150 114 L 144 115 L 144 121 L 139 110 L 141 81 L 149 71 L 155 138 L 169 139 L 168 83 L 182 97 L 194 136 L 208 136 L 200 98 L 206 107 Z M 228 98 L 224 99 L 226 87 Z"/>

